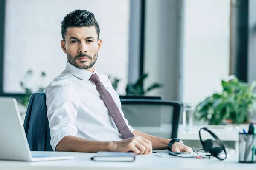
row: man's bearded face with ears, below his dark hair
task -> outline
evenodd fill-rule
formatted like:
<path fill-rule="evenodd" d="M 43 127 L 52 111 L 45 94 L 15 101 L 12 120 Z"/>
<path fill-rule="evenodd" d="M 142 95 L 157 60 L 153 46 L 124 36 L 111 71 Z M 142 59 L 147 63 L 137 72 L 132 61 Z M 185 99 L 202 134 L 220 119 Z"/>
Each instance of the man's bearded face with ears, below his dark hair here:
<path fill-rule="evenodd" d="M 93 72 L 102 40 L 98 40 L 95 26 L 67 28 L 61 48 L 67 60 L 79 69 Z"/>

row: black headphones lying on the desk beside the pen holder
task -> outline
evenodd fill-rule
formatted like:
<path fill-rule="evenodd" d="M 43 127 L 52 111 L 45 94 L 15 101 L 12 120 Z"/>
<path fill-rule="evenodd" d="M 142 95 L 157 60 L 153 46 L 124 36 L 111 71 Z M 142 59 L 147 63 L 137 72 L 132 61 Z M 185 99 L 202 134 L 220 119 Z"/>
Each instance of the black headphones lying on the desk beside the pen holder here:
<path fill-rule="evenodd" d="M 209 132 L 212 135 L 212 137 L 216 140 L 216 143 L 220 147 L 213 147 L 213 140 L 212 139 L 202 140 L 201 139 L 201 133 L 200 133 L 201 129 Z M 226 159 L 227 158 L 227 152 L 226 152 L 226 149 L 224 147 L 223 142 L 211 130 L 207 129 L 206 127 L 202 127 L 201 129 L 199 130 L 199 138 L 200 138 L 201 144 L 203 146 L 203 150 L 205 152 L 209 152 L 212 156 L 215 156 L 219 160 Z M 224 153 L 225 153 L 225 158 L 220 158 L 219 157 L 219 153 L 221 153 L 222 151 L 224 151 Z"/>

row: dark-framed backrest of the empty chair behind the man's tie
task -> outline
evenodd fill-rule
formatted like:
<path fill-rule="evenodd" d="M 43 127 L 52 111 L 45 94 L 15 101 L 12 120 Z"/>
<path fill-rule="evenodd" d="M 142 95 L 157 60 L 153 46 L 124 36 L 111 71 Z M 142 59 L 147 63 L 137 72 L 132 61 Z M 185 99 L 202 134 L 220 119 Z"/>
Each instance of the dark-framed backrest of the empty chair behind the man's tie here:
<path fill-rule="evenodd" d="M 125 118 L 134 129 L 163 138 L 175 138 L 183 105 L 179 101 L 121 99 Z"/>

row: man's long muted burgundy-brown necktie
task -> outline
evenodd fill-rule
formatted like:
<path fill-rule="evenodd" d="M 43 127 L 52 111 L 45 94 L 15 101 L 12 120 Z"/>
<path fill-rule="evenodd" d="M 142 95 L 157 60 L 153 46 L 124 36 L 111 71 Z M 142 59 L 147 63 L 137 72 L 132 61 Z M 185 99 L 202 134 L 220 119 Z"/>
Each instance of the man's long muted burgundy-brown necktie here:
<path fill-rule="evenodd" d="M 105 103 L 106 107 L 108 108 L 108 111 L 110 112 L 110 114 L 111 114 L 117 128 L 119 129 L 119 132 L 122 134 L 122 136 L 125 139 L 134 137 L 134 135 L 131 133 L 131 130 L 126 125 L 125 120 L 123 119 L 119 109 L 117 108 L 116 103 L 114 102 L 111 94 L 105 89 L 102 82 L 100 82 L 99 76 L 96 73 L 92 74 L 89 80 L 95 83 L 97 91 L 99 92 L 100 96 L 102 97 L 103 102 Z"/>

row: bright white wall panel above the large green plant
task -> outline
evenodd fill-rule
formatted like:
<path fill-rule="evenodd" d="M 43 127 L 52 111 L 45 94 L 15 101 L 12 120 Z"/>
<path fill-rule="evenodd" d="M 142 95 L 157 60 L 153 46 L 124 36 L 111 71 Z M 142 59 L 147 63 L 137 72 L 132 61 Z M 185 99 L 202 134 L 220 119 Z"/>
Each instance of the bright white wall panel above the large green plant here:
<path fill-rule="evenodd" d="M 229 75 L 230 0 L 185 0 L 183 102 L 221 90 Z"/>

